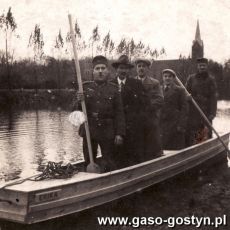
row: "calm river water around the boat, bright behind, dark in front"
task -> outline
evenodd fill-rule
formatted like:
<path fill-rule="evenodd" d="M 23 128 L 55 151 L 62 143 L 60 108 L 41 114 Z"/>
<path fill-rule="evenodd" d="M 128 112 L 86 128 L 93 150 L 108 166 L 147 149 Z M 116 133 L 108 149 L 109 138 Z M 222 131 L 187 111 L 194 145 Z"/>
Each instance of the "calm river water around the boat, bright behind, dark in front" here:
<path fill-rule="evenodd" d="M 37 173 L 47 161 L 75 162 L 82 159 L 77 128 L 65 111 L 11 111 L 1 113 L 0 178 L 10 180 Z M 218 132 L 230 131 L 230 102 L 218 103 L 214 126 Z M 181 217 L 224 214 L 230 216 L 230 168 L 222 165 L 208 173 L 185 175 L 162 182 L 118 201 L 33 225 L 0 221 L 1 230 L 131 230 L 129 226 L 98 225 L 98 216 Z M 167 225 L 142 226 L 139 229 L 167 230 Z M 176 230 L 194 230 L 194 226 L 176 226 Z M 210 226 L 201 226 L 210 230 Z M 220 226 L 218 229 L 229 229 Z"/>

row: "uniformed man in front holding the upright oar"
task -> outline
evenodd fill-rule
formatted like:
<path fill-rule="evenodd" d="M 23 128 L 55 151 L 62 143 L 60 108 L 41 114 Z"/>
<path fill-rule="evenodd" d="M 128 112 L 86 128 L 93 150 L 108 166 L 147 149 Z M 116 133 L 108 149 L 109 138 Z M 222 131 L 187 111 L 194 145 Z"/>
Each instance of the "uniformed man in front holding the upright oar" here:
<path fill-rule="evenodd" d="M 125 135 L 125 119 L 117 86 L 108 82 L 108 61 L 104 56 L 93 58 L 93 81 L 83 84 L 84 95 L 78 95 L 78 102 L 85 99 L 91 144 L 94 159 L 98 145 L 102 154 L 102 171 L 116 168 L 114 146 L 121 145 Z M 84 126 L 79 134 L 83 137 L 83 153 L 86 165 L 89 163 Z"/>

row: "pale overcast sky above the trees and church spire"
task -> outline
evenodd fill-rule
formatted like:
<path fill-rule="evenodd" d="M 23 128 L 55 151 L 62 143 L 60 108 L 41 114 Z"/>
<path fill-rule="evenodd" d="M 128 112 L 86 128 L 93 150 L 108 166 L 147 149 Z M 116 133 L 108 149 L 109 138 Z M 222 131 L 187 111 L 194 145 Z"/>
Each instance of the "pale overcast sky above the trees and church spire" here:
<path fill-rule="evenodd" d="M 0 0 L 1 14 L 12 7 L 20 39 L 12 39 L 17 56 L 29 55 L 27 44 L 35 24 L 40 24 L 45 53 L 59 29 L 69 29 L 68 13 L 78 20 L 85 40 L 98 25 L 102 37 L 110 31 L 116 41 L 122 37 L 142 40 L 152 48 L 165 48 L 167 59 L 191 54 L 197 19 L 205 56 L 224 62 L 230 58 L 230 0 Z M 2 34 L 0 35 L 0 48 Z"/>

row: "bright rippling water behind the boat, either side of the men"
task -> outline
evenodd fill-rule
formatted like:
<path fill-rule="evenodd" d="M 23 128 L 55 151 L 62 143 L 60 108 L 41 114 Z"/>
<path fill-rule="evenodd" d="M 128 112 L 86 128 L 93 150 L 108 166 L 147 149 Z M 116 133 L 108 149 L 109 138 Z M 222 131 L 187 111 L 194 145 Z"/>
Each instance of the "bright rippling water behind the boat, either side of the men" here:
<path fill-rule="evenodd" d="M 0 179 L 24 178 L 48 161 L 82 160 L 81 138 L 66 111 L 7 111 L 0 114 Z M 230 102 L 220 101 L 214 127 L 230 131 Z"/>

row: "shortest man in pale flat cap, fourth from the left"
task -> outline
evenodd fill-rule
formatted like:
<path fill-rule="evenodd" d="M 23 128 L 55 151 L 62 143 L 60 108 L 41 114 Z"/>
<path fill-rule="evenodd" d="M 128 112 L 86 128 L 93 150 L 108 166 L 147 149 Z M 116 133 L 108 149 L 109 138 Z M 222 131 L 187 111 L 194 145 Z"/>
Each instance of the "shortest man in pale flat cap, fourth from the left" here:
<path fill-rule="evenodd" d="M 171 69 L 162 71 L 164 105 L 161 110 L 161 133 L 163 149 L 185 148 L 185 131 L 188 103 L 185 90 L 174 82 L 176 73 Z"/>

